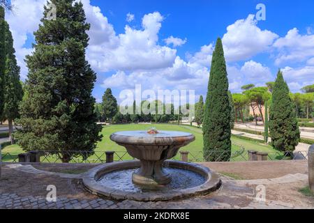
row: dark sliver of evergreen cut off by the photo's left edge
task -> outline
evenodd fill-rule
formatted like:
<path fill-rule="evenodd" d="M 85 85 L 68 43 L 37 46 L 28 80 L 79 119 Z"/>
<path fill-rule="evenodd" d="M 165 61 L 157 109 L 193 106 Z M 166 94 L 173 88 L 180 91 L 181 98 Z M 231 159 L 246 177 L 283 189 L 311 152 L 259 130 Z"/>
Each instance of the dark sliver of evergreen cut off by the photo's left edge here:
<path fill-rule="evenodd" d="M 6 24 L 4 21 L 4 8 L 0 6 L 0 117 L 4 107 L 4 73 L 6 70 Z"/>

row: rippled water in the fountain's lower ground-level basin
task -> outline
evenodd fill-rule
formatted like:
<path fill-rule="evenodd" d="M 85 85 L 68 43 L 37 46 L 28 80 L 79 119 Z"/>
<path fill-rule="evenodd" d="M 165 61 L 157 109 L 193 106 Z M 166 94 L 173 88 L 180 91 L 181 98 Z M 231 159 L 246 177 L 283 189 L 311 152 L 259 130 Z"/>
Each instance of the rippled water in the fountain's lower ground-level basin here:
<path fill-rule="evenodd" d="M 132 183 L 132 174 L 136 169 L 125 169 L 121 171 L 113 171 L 102 176 L 98 183 L 105 187 L 112 187 L 117 190 L 124 190 L 126 192 L 150 192 Z M 169 190 L 183 190 L 186 188 L 196 187 L 202 185 L 206 179 L 193 171 L 184 169 L 165 168 L 165 171 L 170 173 L 172 181 L 168 185 L 156 187 L 154 190 L 169 191 Z"/>

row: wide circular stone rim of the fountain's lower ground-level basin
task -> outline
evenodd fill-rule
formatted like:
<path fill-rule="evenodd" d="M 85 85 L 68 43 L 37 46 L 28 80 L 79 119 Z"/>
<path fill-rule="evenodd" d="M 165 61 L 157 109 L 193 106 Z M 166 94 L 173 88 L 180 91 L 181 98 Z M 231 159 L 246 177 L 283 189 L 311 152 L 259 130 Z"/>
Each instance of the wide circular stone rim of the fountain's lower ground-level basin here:
<path fill-rule="evenodd" d="M 110 164 L 100 165 L 91 169 L 84 174 L 82 181 L 84 187 L 99 197 L 105 197 L 113 200 L 133 200 L 133 201 L 170 201 L 174 199 L 184 199 L 187 197 L 194 197 L 197 195 L 209 194 L 218 190 L 222 184 L 218 174 L 212 172 L 209 168 L 203 167 L 200 164 L 180 162 L 180 161 L 165 161 L 165 166 L 176 169 L 186 169 L 194 171 L 197 174 L 206 178 L 205 183 L 196 187 L 186 189 L 168 190 L 163 192 L 153 192 L 151 194 L 142 194 L 140 192 L 126 192 L 123 190 L 115 190 L 112 187 L 100 185 L 97 180 L 104 174 L 112 171 L 119 171 L 124 169 L 135 169 L 140 167 L 140 161 L 124 161 L 112 162 Z"/>

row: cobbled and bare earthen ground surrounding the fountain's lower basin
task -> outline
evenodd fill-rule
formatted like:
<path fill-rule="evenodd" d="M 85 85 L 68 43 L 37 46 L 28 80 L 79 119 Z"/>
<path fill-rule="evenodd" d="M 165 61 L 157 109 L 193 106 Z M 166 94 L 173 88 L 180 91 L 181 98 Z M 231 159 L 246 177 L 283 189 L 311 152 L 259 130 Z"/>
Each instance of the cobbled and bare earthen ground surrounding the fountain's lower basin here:
<path fill-rule="evenodd" d="M 82 174 L 59 174 L 54 171 L 87 171 L 93 164 L 33 164 L 33 166 L 6 164 L 0 180 L 0 208 L 59 208 L 59 209 L 98 209 L 98 208 L 314 208 L 314 198 L 305 197 L 298 192 L 307 184 L 306 161 L 272 162 L 272 179 L 267 178 L 269 171 L 266 162 L 245 163 L 204 163 L 216 171 L 242 174 L 247 180 L 234 180 L 222 176 L 223 187 L 220 190 L 201 197 L 192 197 L 178 201 L 110 201 L 86 192 L 79 179 Z M 254 168 L 250 168 L 255 167 Z M 282 169 L 296 171 L 282 171 Z M 241 170 L 242 169 L 242 170 Z M 262 169 L 258 178 L 258 171 Z M 279 170 L 281 169 L 281 170 Z M 245 171 L 244 171 L 245 170 Z M 250 171 L 255 173 L 248 173 Z M 277 171 L 278 170 L 278 171 Z M 251 172 L 252 172 L 251 171 Z M 251 177 L 253 176 L 253 177 Z M 266 177 L 265 177 L 266 176 Z M 263 184 L 266 189 L 266 202 L 257 201 L 257 186 Z M 57 187 L 57 202 L 48 202 L 47 185 Z"/>

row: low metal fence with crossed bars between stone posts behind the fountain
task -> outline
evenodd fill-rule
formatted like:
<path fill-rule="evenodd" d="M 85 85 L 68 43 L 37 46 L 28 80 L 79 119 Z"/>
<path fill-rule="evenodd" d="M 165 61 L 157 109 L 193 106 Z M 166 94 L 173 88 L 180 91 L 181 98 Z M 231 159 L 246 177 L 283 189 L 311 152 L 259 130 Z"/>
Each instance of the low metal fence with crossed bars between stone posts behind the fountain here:
<path fill-rule="evenodd" d="M 19 162 L 20 153 L 2 153 L 2 162 Z M 270 152 L 263 153 L 263 160 L 307 160 L 308 151 L 298 152 Z M 64 155 L 70 155 L 70 163 L 104 163 L 107 161 L 107 155 L 105 151 L 40 151 L 40 162 L 45 163 L 61 163 Z M 225 159 L 229 157 L 229 159 Z M 126 151 L 114 151 L 115 162 L 134 160 L 133 157 L 128 155 Z M 178 153 L 172 160 L 183 160 L 182 154 Z M 245 162 L 251 161 L 251 157 L 248 155 L 248 151 L 242 148 L 239 151 L 211 151 L 204 157 L 204 153 L 200 152 L 188 152 L 185 160 L 188 162 Z"/>

